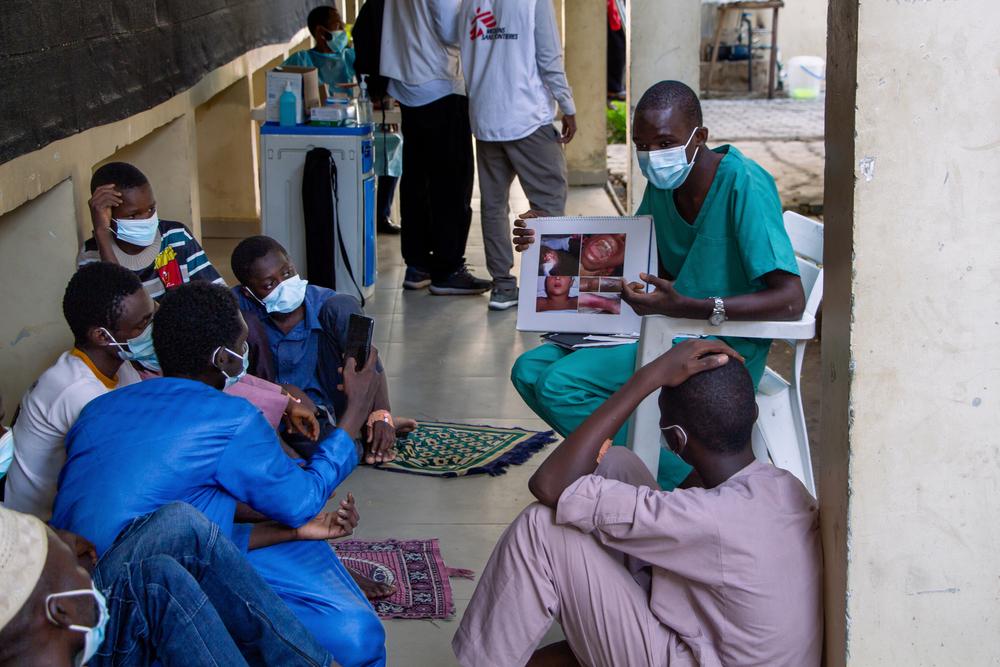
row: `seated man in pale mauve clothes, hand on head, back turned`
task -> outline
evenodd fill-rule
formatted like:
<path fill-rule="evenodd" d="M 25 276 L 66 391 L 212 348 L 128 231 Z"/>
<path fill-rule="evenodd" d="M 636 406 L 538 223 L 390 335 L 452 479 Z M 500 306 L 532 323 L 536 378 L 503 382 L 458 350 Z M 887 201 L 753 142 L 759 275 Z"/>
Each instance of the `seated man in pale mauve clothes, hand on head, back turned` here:
<path fill-rule="evenodd" d="M 452 642 L 459 662 L 820 664 L 816 502 L 754 459 L 757 404 L 741 361 L 721 341 L 681 343 L 556 448 L 528 485 L 538 503 L 476 587 Z M 631 450 L 610 446 L 654 391 L 670 448 L 705 488 L 662 491 Z M 554 620 L 567 641 L 535 652 Z"/>

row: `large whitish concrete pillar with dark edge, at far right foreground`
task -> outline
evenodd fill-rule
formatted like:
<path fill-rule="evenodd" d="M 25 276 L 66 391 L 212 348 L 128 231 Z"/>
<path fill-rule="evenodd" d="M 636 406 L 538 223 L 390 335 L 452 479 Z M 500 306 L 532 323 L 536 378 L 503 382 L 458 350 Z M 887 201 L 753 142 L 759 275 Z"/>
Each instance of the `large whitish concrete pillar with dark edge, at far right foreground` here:
<path fill-rule="evenodd" d="M 830 667 L 1000 661 L 996 15 L 992 0 L 830 3 Z"/>

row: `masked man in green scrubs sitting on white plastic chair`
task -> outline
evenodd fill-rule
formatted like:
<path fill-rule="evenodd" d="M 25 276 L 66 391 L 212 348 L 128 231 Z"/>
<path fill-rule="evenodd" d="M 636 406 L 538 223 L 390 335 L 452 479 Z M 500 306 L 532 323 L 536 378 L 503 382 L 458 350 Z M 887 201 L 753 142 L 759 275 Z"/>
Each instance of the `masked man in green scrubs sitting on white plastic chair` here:
<path fill-rule="evenodd" d="M 712 323 L 801 317 L 805 295 L 774 179 L 734 146 L 708 148 L 695 92 L 678 81 L 647 90 L 635 109 L 632 140 L 649 180 L 636 214 L 653 217 L 660 275 L 642 275 L 656 288 L 652 293 L 632 285 L 622 299 L 640 315 Z M 526 224 L 515 222 L 518 250 L 534 241 Z M 756 386 L 771 341 L 725 340 L 746 358 Z M 635 354 L 634 345 L 570 352 L 544 344 L 518 358 L 511 381 L 539 417 L 567 435 L 632 375 Z M 624 445 L 627 435 L 623 422 L 614 443 Z M 690 472 L 669 452 L 660 456 L 664 488 Z"/>

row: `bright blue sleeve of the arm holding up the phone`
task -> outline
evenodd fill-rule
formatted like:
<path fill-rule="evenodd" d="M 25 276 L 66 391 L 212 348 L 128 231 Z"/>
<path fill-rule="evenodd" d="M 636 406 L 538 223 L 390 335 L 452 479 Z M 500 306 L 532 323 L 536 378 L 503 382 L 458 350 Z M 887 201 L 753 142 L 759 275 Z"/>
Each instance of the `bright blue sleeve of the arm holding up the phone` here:
<path fill-rule="evenodd" d="M 319 444 L 309 465 L 300 468 L 281 449 L 264 416 L 254 410 L 233 433 L 215 477 L 237 500 L 297 528 L 323 511 L 357 464 L 354 441 L 336 429 Z"/>

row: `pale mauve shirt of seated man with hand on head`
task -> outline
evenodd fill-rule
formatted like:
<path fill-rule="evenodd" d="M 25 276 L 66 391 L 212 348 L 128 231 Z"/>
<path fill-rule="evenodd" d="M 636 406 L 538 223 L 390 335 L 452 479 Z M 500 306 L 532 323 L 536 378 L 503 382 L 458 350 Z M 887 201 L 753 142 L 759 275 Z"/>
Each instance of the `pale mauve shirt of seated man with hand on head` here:
<path fill-rule="evenodd" d="M 588 475 L 556 520 L 652 565 L 650 609 L 699 664 L 820 664 L 819 514 L 790 473 L 755 461 L 672 492 Z"/>

